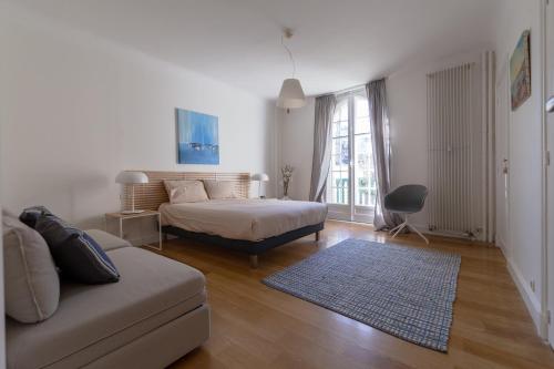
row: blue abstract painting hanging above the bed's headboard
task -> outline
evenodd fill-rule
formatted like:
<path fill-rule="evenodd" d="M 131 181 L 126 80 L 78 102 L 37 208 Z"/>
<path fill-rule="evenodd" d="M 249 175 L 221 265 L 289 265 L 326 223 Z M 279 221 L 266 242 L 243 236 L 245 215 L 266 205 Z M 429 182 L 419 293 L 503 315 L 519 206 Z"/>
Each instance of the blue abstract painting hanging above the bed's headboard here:
<path fill-rule="evenodd" d="M 178 164 L 219 164 L 217 116 L 177 109 Z"/>

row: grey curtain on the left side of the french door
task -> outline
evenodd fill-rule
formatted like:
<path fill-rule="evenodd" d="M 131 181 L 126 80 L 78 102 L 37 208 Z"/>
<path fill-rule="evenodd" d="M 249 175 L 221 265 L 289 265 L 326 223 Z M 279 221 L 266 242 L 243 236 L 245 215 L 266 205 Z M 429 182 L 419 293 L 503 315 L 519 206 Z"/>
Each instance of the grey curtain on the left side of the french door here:
<path fill-rule="evenodd" d="M 311 161 L 310 201 L 322 202 L 327 187 L 327 175 L 331 164 L 332 115 L 337 106 L 335 95 L 316 99 L 316 122 L 314 127 L 314 157 Z"/>

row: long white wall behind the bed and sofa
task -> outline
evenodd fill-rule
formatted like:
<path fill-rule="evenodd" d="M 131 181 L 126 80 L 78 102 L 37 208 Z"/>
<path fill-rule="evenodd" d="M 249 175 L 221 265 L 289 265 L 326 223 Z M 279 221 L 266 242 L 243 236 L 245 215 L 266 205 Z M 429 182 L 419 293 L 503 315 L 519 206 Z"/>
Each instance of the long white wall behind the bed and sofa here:
<path fill-rule="evenodd" d="M 3 14 L 8 208 L 43 204 L 103 227 L 103 214 L 120 207 L 122 170 L 273 171 L 267 101 L 29 13 Z M 219 117 L 220 165 L 176 164 L 175 107 Z"/>

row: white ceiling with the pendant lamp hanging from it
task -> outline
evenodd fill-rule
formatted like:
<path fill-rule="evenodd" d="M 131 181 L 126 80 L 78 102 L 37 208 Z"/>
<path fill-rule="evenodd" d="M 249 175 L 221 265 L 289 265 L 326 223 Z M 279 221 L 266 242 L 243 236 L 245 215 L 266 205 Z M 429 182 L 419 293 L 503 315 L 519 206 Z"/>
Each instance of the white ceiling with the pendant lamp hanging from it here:
<path fill-rule="evenodd" d="M 365 83 L 413 62 L 481 48 L 502 0 L 10 0 L 70 27 L 250 90 L 307 94 Z"/>

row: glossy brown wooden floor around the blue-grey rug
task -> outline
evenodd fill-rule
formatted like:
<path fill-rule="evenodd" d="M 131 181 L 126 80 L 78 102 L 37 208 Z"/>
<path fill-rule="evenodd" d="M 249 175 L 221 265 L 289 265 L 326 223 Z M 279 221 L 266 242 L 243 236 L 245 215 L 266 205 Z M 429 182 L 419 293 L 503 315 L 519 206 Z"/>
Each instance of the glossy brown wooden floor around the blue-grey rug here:
<path fill-rule="evenodd" d="M 433 238 L 430 248 L 462 256 L 449 352 L 392 337 L 260 283 L 267 275 L 339 240 L 386 242 L 370 226 L 328 222 L 314 236 L 248 257 L 185 240 L 162 253 L 202 270 L 212 306 L 212 337 L 172 368 L 554 368 L 495 247 Z M 425 247 L 413 235 L 396 243 Z"/>

